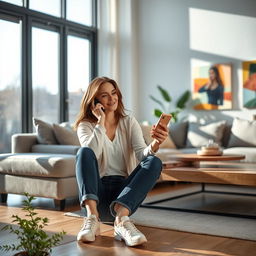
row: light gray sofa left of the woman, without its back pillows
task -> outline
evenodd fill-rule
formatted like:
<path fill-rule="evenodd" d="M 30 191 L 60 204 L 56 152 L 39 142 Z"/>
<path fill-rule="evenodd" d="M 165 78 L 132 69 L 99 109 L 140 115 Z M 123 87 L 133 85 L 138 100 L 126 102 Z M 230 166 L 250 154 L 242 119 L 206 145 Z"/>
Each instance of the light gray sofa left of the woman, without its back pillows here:
<path fill-rule="evenodd" d="M 38 143 L 37 134 L 12 136 L 12 153 L 0 154 L 0 194 L 8 193 L 55 199 L 61 210 L 65 199 L 77 197 L 75 155 L 79 146 Z"/>

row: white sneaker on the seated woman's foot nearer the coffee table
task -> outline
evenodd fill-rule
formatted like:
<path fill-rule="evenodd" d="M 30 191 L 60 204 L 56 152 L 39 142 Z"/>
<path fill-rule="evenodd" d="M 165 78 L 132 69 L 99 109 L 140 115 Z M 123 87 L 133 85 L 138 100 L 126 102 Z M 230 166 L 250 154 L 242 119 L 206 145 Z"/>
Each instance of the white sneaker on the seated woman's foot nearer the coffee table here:
<path fill-rule="evenodd" d="M 123 216 L 119 224 L 114 225 L 116 240 L 124 240 L 128 246 L 136 246 L 147 242 L 147 238 L 134 226 L 128 216 Z"/>

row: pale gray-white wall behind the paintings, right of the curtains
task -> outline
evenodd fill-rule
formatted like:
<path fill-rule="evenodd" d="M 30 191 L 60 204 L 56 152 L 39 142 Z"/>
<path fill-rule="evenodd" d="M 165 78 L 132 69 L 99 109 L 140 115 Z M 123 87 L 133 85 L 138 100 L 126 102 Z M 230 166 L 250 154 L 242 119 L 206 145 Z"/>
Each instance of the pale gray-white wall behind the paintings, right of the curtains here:
<path fill-rule="evenodd" d="M 173 100 L 190 89 L 191 60 L 198 59 L 232 63 L 233 110 L 189 112 L 197 119 L 251 120 L 256 110 L 242 107 L 241 62 L 256 59 L 255 28 L 254 0 L 139 0 L 138 92 L 143 104 L 138 118 L 155 121 L 152 110 L 157 105 L 148 95 L 159 95 L 157 84 L 168 89 Z"/>

